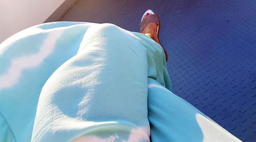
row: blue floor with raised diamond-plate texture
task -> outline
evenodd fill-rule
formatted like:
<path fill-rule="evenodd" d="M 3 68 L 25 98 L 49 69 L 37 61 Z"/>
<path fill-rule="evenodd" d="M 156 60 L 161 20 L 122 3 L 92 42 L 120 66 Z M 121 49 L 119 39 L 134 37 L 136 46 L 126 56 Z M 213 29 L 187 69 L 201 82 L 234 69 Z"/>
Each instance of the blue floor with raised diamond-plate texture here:
<path fill-rule="evenodd" d="M 256 1 L 82 1 L 61 21 L 139 31 L 147 9 L 162 23 L 173 92 L 243 141 L 256 141 Z"/>

